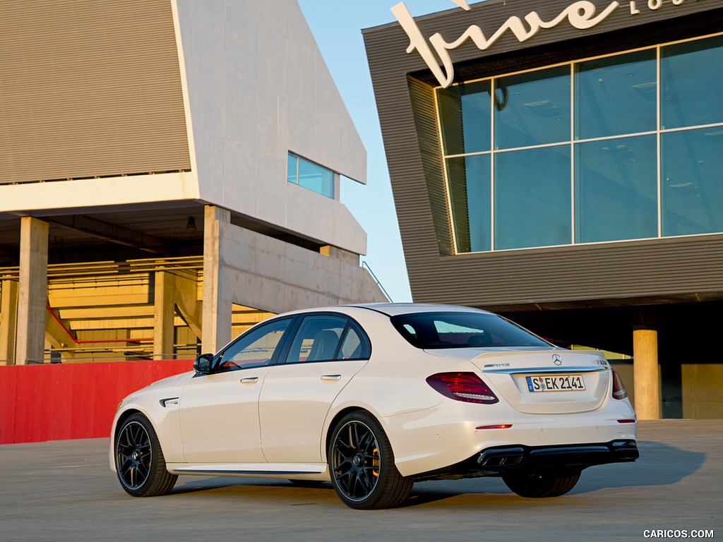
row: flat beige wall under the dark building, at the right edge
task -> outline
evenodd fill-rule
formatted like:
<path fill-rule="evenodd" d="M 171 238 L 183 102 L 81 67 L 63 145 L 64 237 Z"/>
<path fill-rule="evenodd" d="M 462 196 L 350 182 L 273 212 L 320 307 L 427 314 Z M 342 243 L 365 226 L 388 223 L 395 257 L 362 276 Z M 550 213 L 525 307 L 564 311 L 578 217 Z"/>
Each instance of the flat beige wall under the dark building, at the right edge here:
<path fill-rule="evenodd" d="M 723 418 L 723 364 L 683 364 L 683 418 Z"/>

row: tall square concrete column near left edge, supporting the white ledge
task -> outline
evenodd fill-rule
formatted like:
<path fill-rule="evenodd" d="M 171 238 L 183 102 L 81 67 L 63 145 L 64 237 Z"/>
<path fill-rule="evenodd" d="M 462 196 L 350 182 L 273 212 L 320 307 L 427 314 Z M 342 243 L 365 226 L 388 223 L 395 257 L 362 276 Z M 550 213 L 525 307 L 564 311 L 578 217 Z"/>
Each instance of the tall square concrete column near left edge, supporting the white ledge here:
<path fill-rule="evenodd" d="M 48 299 L 48 223 L 20 219 L 20 283 L 17 293 L 15 363 L 41 360 L 45 350 Z"/>

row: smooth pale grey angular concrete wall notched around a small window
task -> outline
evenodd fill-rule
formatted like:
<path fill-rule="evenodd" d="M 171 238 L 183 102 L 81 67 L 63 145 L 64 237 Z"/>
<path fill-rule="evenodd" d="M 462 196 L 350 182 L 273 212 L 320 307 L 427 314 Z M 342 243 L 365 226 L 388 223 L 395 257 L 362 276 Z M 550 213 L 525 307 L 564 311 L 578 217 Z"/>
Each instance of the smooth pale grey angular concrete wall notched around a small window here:
<path fill-rule="evenodd" d="M 357 254 L 339 201 L 289 183 L 288 152 L 366 183 L 367 152 L 296 0 L 177 0 L 200 199 Z"/>

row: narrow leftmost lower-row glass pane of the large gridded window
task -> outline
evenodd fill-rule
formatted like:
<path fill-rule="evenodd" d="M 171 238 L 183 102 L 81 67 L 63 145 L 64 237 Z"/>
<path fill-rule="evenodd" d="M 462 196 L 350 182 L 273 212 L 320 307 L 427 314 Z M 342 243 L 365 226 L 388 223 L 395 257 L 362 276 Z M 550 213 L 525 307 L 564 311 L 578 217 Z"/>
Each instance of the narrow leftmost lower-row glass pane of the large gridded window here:
<path fill-rule="evenodd" d="M 490 162 L 489 155 L 447 160 L 450 202 L 458 252 L 492 249 Z"/>

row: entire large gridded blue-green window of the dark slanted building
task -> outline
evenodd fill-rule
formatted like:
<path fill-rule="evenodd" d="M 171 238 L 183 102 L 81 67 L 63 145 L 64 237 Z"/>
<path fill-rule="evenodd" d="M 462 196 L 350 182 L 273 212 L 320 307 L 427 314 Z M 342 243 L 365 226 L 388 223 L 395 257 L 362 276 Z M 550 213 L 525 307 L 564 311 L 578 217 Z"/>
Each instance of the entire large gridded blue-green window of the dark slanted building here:
<path fill-rule="evenodd" d="M 723 232 L 723 35 L 437 89 L 458 252 Z"/>

